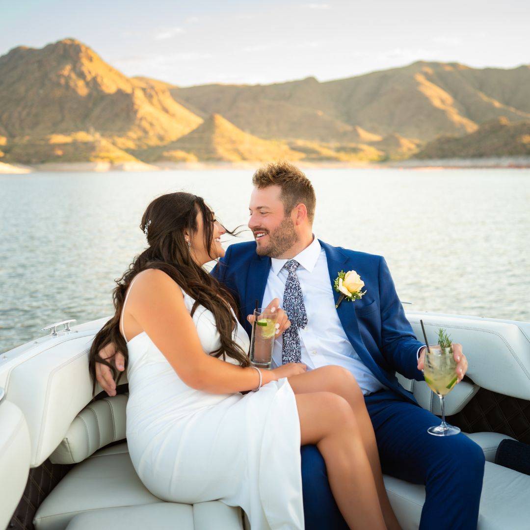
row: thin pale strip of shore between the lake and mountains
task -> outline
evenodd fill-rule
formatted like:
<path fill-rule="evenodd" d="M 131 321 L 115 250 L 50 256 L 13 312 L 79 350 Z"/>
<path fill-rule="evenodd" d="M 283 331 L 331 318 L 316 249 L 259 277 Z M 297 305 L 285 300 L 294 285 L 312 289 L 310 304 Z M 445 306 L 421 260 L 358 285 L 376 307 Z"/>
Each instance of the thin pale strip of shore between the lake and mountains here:
<path fill-rule="evenodd" d="M 45 172 L 152 172 L 257 169 L 263 162 L 57 162 L 36 165 L 6 164 L 0 162 L 0 174 L 28 174 Z M 304 162 L 301 169 L 413 169 L 441 171 L 451 169 L 528 169 L 530 157 L 508 156 L 492 158 L 442 158 L 436 160 L 400 160 L 388 162 Z"/>

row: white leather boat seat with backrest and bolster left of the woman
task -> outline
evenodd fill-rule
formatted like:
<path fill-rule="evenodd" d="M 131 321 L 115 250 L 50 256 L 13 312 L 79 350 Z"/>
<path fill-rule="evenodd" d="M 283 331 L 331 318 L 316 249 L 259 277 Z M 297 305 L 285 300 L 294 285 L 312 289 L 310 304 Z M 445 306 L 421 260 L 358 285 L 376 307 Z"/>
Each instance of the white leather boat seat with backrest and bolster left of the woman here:
<path fill-rule="evenodd" d="M 171 503 L 153 496 L 140 482 L 127 446 L 122 443 L 104 447 L 125 438 L 127 396 L 92 402 L 88 353 L 103 323 L 98 322 L 97 329 L 87 324 L 48 338 L 46 351 L 41 351 L 40 345 L 30 348 L 27 355 L 13 359 L 8 366 L 3 379 L 8 401 L 1 403 L 0 410 L 0 451 L 2 444 L 8 448 L 5 453 L 0 452 L 0 523 L 11 517 L 21 499 L 29 469 L 41 466 L 54 454 L 50 458 L 52 462 L 79 463 L 38 507 L 33 519 L 37 530 L 64 530 L 71 519 L 84 512 L 95 514 L 96 510 L 105 512 L 144 505 L 151 507 L 151 517 L 160 510 L 161 519 L 167 519 L 167 510 L 174 510 L 175 515 L 182 516 L 182 520 L 173 521 L 174 526 L 182 530 L 241 530 L 241 509 L 227 507 L 219 501 L 204 507 L 163 506 Z M 4 425 L 16 427 L 14 438 Z M 5 480 L 6 476 L 10 479 Z M 157 519 L 154 517 L 152 524 L 143 527 L 157 527 Z M 0 528 L 8 523 L 7 519 Z M 112 528 L 120 527 L 123 525 L 112 525 Z"/>

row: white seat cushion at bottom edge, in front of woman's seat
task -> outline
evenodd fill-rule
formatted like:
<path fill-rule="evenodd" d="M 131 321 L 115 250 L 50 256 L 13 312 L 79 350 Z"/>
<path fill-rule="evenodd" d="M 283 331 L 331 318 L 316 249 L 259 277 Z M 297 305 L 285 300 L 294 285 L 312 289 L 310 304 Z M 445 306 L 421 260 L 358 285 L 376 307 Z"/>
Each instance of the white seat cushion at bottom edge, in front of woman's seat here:
<path fill-rule="evenodd" d="M 200 502 L 193 506 L 159 502 L 143 506 L 87 511 L 76 515 L 68 530 L 243 530 L 241 510 L 222 502 Z"/>

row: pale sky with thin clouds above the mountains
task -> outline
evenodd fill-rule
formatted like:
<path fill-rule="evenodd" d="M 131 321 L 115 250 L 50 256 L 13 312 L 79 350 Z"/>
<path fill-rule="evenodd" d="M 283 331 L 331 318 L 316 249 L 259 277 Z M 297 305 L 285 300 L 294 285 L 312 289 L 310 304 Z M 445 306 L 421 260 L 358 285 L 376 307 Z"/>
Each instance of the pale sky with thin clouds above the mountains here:
<path fill-rule="evenodd" d="M 73 37 L 179 86 L 319 81 L 416 60 L 530 64 L 530 1 L 0 0 L 0 55 Z"/>

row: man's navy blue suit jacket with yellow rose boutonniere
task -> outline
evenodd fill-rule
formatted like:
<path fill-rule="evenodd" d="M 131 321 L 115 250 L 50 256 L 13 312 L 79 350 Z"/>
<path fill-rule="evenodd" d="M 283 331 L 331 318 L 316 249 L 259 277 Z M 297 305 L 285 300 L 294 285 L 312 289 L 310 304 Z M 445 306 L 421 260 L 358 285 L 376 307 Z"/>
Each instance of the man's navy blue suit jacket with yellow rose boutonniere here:
<path fill-rule="evenodd" d="M 405 317 L 386 261 L 381 256 L 334 247 L 322 241 L 320 244 L 328 260 L 331 285 L 341 270 L 355 270 L 365 282 L 363 298 L 343 301 L 336 310 L 330 306 L 329 311 L 337 311 L 351 345 L 377 379 L 415 403 L 412 394 L 398 383 L 395 372 L 409 379 L 423 379 L 416 358 L 422 343 L 414 337 Z M 230 245 L 212 271 L 234 295 L 239 320 L 249 335 L 251 326 L 246 315 L 252 313 L 256 300 L 262 305 L 271 263 L 269 257 L 259 256 L 255 249 L 255 242 Z M 339 293 L 334 291 L 334 296 L 337 303 Z"/>

